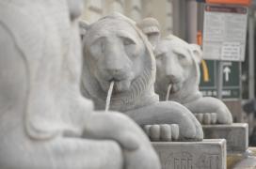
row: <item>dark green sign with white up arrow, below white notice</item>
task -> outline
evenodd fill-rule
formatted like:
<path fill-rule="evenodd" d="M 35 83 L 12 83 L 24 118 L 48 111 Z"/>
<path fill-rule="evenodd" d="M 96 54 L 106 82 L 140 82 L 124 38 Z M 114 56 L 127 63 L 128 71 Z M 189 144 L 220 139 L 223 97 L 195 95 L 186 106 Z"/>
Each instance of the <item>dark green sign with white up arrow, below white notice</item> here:
<path fill-rule="evenodd" d="M 216 97 L 218 61 L 205 60 L 200 65 L 200 91 L 203 96 Z M 239 62 L 223 62 L 222 98 L 224 100 L 240 99 Z"/>

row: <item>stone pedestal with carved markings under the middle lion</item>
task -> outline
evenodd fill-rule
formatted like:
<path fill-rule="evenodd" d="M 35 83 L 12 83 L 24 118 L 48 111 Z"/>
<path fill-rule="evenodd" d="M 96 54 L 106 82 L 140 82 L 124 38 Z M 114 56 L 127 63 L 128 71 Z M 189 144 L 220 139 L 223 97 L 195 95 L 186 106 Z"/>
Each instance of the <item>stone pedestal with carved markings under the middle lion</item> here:
<path fill-rule="evenodd" d="M 152 142 L 162 169 L 226 169 L 226 141 Z"/>

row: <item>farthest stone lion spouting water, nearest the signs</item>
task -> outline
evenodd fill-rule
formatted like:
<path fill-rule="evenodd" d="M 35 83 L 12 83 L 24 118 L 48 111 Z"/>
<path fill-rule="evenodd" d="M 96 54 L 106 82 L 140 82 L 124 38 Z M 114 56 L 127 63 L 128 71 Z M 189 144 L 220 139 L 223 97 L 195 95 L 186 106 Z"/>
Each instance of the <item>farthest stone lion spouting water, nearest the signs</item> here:
<path fill-rule="evenodd" d="M 157 68 L 154 86 L 160 100 L 166 100 L 171 84 L 169 100 L 182 103 L 197 115 L 200 122 L 232 123 L 232 114 L 221 100 L 200 94 L 200 46 L 169 35 L 158 43 L 154 54 Z"/>

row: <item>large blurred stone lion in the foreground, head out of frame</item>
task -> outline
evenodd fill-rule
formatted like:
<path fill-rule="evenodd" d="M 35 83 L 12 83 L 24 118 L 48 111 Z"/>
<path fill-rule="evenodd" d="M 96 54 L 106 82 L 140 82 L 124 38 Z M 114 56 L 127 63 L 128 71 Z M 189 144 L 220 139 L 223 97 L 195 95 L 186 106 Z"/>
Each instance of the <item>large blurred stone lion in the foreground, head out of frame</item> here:
<path fill-rule="evenodd" d="M 80 1 L 0 1 L 0 168 L 160 169 L 126 115 L 82 97 Z"/>

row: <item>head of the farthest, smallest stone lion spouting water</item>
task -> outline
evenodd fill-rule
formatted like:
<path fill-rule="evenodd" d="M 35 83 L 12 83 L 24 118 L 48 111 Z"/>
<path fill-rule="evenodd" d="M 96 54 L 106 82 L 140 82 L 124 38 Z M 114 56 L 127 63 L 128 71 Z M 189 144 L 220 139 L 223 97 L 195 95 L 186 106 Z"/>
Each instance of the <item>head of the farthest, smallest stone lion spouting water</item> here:
<path fill-rule="evenodd" d="M 154 50 L 156 57 L 156 93 L 164 100 L 171 84 L 170 99 L 185 102 L 199 95 L 200 46 L 169 35 Z"/>

